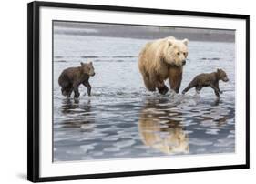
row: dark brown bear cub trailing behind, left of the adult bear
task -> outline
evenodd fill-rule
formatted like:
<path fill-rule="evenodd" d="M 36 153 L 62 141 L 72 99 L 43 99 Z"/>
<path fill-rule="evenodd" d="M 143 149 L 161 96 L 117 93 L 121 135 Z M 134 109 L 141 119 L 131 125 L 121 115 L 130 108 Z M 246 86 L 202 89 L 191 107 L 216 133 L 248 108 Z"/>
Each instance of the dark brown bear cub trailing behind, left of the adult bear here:
<path fill-rule="evenodd" d="M 61 87 L 61 93 L 63 96 L 70 97 L 71 93 L 74 91 L 74 97 L 80 96 L 78 87 L 83 84 L 87 87 L 88 96 L 91 95 L 91 86 L 89 83 L 89 77 L 94 76 L 94 67 L 92 62 L 83 63 L 81 66 L 68 67 L 63 70 L 61 75 L 58 77 L 58 84 Z"/>

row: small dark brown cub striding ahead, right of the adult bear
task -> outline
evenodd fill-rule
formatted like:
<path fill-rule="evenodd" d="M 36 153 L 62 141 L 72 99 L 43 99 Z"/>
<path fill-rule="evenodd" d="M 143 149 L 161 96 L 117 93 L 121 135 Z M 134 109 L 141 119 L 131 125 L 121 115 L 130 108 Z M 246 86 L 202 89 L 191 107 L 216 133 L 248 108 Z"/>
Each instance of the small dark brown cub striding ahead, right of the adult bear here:
<path fill-rule="evenodd" d="M 219 80 L 222 80 L 224 82 L 229 81 L 226 72 L 222 69 L 217 69 L 217 72 L 200 74 L 194 77 L 194 79 L 189 83 L 189 86 L 182 91 L 182 94 L 185 94 L 192 87 L 196 87 L 196 91 L 198 93 L 200 93 L 202 87 L 211 87 L 214 90 L 215 95 L 217 97 L 220 97 L 222 91 L 220 91 L 219 88 Z"/>

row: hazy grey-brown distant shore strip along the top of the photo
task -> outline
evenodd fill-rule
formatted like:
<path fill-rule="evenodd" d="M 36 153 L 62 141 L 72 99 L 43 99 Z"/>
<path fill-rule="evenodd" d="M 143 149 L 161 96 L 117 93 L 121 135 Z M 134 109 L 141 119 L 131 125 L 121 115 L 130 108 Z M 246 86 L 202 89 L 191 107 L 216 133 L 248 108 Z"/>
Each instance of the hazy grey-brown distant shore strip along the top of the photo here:
<path fill-rule="evenodd" d="M 55 21 L 54 33 L 77 36 L 109 36 L 137 39 L 158 39 L 166 36 L 175 36 L 178 39 L 188 38 L 193 41 L 235 42 L 234 30 L 170 26 L 126 26 Z"/>

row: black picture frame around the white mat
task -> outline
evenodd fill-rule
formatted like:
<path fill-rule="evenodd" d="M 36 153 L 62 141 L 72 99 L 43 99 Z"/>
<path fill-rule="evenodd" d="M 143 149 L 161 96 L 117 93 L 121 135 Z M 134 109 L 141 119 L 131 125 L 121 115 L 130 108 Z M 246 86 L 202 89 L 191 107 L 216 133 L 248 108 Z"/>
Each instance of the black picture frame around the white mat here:
<path fill-rule="evenodd" d="M 91 10 L 110 10 L 118 12 L 135 12 L 161 15 L 196 15 L 204 17 L 218 17 L 243 19 L 246 21 L 246 163 L 220 167 L 202 167 L 189 169 L 159 169 L 140 170 L 118 173 L 85 174 L 60 177 L 41 178 L 39 175 L 39 8 L 73 8 Z M 156 175 L 180 172 L 196 172 L 223 169 L 249 169 L 250 167 L 250 15 L 219 14 L 208 12 L 179 11 L 167 9 L 152 9 L 138 7 L 123 7 L 109 5 L 81 5 L 52 2 L 32 2 L 27 5 L 27 179 L 33 182 L 56 181 L 69 179 L 97 179 L 111 177 L 127 177 L 138 175 Z"/>

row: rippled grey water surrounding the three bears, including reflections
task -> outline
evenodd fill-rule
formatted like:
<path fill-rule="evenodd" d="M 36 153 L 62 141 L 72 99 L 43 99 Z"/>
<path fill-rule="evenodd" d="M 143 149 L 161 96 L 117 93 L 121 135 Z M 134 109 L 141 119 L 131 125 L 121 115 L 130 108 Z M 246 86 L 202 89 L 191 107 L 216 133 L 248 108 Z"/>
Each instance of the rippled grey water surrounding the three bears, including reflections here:
<path fill-rule="evenodd" d="M 54 35 L 54 161 L 235 151 L 235 44 L 189 42 L 180 88 L 202 72 L 222 68 L 230 81 L 220 82 L 223 94 L 217 101 L 210 87 L 200 95 L 194 89 L 184 96 L 148 92 L 138 72 L 138 53 L 146 42 Z M 92 96 L 81 86 L 79 100 L 63 97 L 57 84 L 61 71 L 88 60 L 96 72 L 90 78 Z"/>

